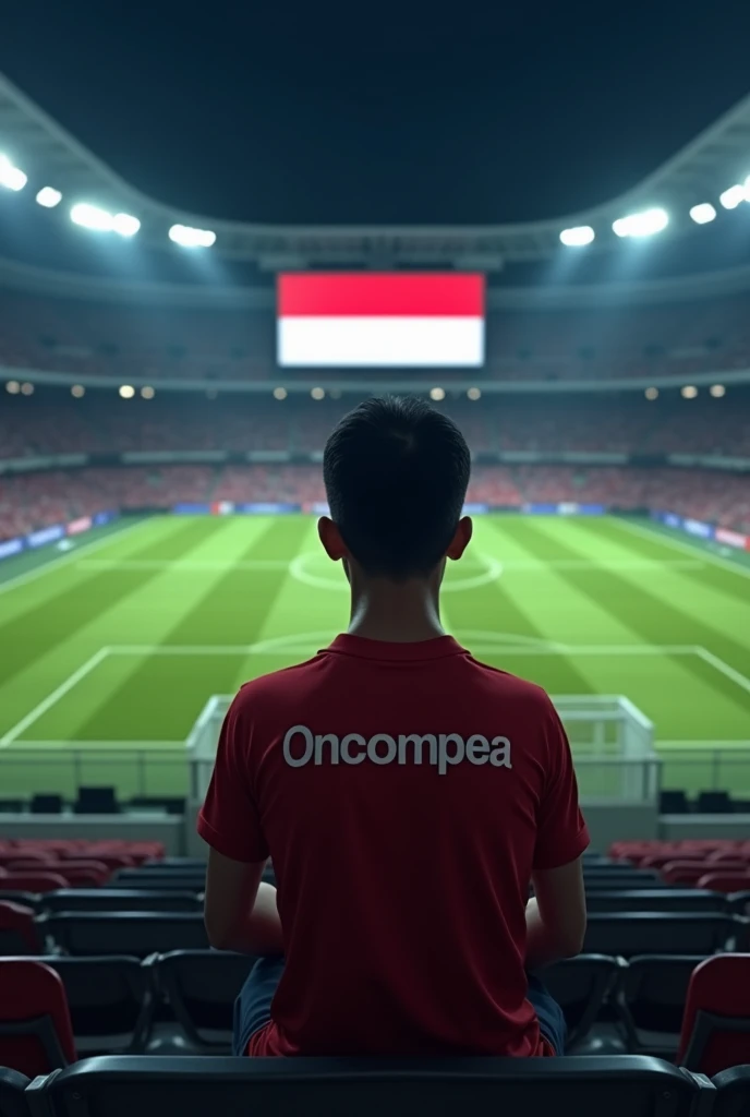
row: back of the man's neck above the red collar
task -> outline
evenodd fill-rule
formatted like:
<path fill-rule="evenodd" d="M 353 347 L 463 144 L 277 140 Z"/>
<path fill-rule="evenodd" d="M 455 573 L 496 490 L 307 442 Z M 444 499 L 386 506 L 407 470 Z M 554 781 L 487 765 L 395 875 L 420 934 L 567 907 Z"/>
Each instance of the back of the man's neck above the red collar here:
<path fill-rule="evenodd" d="M 352 586 L 350 636 L 390 643 L 417 643 L 445 636 L 438 592 L 429 582 L 368 580 Z"/>

